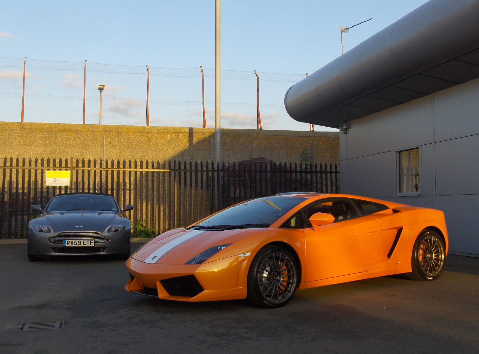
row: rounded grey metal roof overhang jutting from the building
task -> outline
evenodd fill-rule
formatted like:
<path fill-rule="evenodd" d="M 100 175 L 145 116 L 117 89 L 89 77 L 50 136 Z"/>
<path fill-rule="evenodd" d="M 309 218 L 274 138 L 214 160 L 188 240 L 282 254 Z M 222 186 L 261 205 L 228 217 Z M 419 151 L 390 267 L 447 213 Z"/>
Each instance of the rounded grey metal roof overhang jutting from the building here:
<path fill-rule="evenodd" d="M 411 77 L 461 56 L 468 61 L 466 54 L 478 48 L 478 1 L 431 0 L 292 86 L 285 95 L 285 108 L 297 121 L 337 127 L 370 110 L 354 110 L 351 116 L 341 113 L 333 122 L 327 113 L 343 112 L 341 107 L 369 94 L 399 104 L 474 79 L 477 68 L 457 69 L 457 63 L 430 76 Z M 468 62 L 475 64 L 477 59 L 471 55 Z M 458 70 L 471 72 L 450 81 Z M 391 85 L 396 90 L 377 94 Z M 374 108 L 378 112 L 384 104 Z"/>

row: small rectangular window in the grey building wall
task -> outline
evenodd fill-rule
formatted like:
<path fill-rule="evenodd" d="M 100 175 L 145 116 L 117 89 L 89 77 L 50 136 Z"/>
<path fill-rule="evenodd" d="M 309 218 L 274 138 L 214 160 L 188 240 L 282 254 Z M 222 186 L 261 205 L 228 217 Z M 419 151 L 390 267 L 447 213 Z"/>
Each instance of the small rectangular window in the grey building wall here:
<path fill-rule="evenodd" d="M 398 193 L 419 194 L 419 148 L 398 151 Z"/>

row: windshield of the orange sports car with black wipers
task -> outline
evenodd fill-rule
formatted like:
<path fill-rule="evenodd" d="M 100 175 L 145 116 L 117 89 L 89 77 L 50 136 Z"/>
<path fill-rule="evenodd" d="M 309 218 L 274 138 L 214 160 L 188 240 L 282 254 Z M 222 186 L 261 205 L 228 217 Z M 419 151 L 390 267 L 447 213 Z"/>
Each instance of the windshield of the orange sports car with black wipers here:
<path fill-rule="evenodd" d="M 304 202 L 305 198 L 271 196 L 253 199 L 237 206 L 220 211 L 201 223 L 192 226 L 194 229 L 230 229 L 268 227 L 285 215 L 293 207 Z"/>

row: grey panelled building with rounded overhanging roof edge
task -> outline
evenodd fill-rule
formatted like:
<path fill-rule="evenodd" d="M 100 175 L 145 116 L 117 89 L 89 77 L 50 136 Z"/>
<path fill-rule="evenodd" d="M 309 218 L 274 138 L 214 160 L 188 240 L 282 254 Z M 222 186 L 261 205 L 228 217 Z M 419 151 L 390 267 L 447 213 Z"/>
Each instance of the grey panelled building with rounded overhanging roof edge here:
<path fill-rule="evenodd" d="M 343 193 L 445 212 L 479 257 L 479 3 L 431 0 L 292 86 L 294 119 L 341 129 Z"/>

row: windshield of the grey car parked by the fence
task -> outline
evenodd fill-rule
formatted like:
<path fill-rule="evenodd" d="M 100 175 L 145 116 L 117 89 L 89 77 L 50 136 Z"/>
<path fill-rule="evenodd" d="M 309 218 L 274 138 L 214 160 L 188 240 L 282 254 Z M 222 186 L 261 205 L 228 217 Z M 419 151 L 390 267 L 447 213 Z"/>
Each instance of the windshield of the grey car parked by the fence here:
<path fill-rule="evenodd" d="M 118 212 L 118 206 L 113 197 L 107 195 L 73 194 L 56 196 L 50 201 L 45 212 L 72 210 L 111 211 L 116 213 Z"/>

